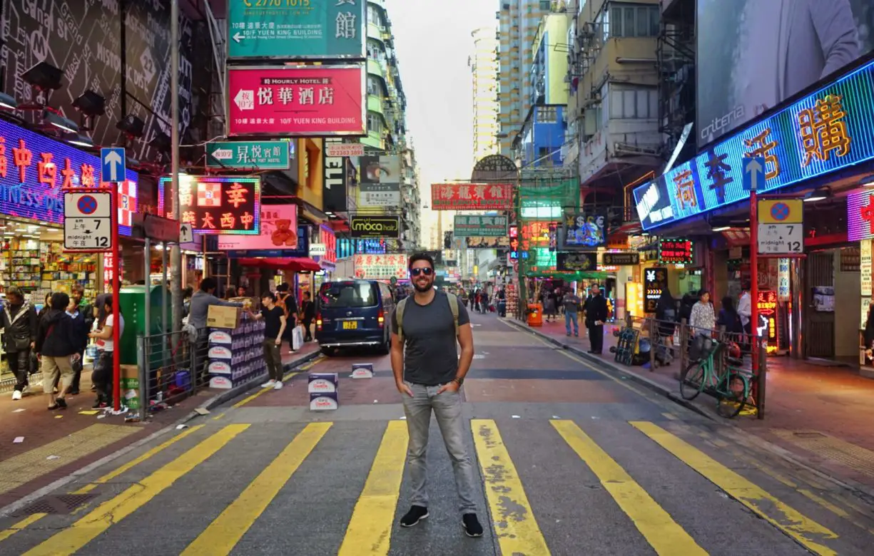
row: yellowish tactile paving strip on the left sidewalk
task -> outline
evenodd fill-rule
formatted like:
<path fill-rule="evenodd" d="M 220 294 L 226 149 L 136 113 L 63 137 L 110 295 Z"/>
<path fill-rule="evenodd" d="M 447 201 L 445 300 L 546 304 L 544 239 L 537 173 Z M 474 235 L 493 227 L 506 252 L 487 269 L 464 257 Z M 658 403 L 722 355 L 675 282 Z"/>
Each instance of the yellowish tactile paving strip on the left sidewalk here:
<path fill-rule="evenodd" d="M 138 431 L 135 427 L 124 425 L 94 424 L 72 435 L 3 460 L 0 462 L 0 494 L 59 470 L 81 457 L 103 450 Z"/>

